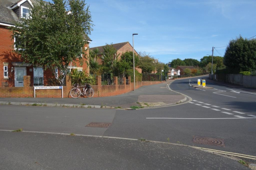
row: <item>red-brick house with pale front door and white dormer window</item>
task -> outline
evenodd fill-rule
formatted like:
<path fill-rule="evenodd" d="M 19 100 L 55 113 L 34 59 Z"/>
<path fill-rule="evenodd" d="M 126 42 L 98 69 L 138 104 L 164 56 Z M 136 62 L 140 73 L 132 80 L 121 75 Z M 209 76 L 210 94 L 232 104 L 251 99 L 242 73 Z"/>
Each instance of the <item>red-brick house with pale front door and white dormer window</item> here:
<path fill-rule="evenodd" d="M 0 86 L 22 87 L 23 76 L 30 76 L 34 80 L 31 85 L 43 86 L 47 85 L 48 78 L 60 74 L 58 68 L 55 69 L 55 75 L 51 70 L 44 70 L 39 65 L 34 69 L 30 63 L 23 63 L 20 56 L 14 52 L 15 38 L 12 39 L 12 32 L 8 27 L 14 26 L 15 21 L 29 15 L 34 2 L 34 0 L 0 0 Z M 86 40 L 92 41 L 89 37 Z M 84 48 L 86 50 L 88 44 Z M 89 55 L 89 50 L 86 50 L 86 55 Z M 78 61 L 73 61 L 70 67 L 89 72 L 86 62 L 80 66 Z"/>

